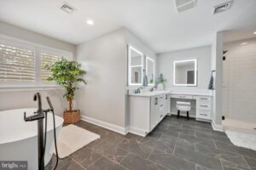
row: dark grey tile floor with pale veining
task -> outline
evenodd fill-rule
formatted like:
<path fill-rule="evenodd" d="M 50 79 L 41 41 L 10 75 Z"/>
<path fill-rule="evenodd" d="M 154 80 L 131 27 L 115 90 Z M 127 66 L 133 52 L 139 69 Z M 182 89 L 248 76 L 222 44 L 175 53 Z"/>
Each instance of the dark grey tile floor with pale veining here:
<path fill-rule="evenodd" d="M 60 161 L 59 170 L 256 170 L 256 151 L 230 143 L 210 123 L 166 116 L 146 138 L 76 123 L 101 139 Z M 55 156 L 47 169 L 55 164 Z"/>

